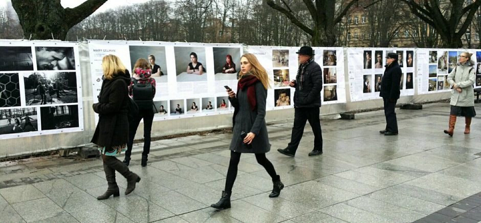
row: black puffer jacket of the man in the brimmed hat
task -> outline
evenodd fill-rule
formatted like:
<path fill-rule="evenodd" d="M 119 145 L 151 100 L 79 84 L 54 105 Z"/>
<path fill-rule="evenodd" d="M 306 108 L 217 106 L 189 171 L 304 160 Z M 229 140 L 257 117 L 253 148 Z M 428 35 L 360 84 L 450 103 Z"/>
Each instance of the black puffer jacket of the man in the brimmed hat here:
<path fill-rule="evenodd" d="M 322 71 L 319 64 L 312 61 L 304 71 L 302 90 L 299 90 L 299 75 L 296 77 L 294 107 L 320 107 L 322 90 Z"/>

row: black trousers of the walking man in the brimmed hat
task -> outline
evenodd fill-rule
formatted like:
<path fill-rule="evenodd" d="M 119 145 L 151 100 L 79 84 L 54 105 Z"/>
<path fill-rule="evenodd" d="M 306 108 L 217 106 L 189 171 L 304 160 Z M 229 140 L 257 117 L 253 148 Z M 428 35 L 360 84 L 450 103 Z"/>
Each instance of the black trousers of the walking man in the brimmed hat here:
<path fill-rule="evenodd" d="M 309 120 L 314 133 L 314 150 L 322 150 L 321 122 L 319 121 L 319 107 L 296 107 L 294 113 L 294 126 L 292 127 L 291 142 L 287 146 L 293 153 L 296 152 L 304 133 L 305 122 Z"/>

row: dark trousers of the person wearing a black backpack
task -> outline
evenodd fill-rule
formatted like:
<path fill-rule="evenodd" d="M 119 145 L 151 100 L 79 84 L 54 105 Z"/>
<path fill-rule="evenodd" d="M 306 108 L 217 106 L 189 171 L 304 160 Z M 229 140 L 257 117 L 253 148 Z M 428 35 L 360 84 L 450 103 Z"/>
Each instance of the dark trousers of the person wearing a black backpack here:
<path fill-rule="evenodd" d="M 133 121 L 128 123 L 129 130 L 125 158 L 130 159 L 135 133 L 137 132 L 137 127 L 139 127 L 140 120 L 142 119 L 144 119 L 144 151 L 142 152 L 142 155 L 147 155 L 150 152 L 150 130 L 152 129 L 152 120 L 154 120 L 154 111 L 152 111 L 152 109 L 139 109 L 139 115 Z"/>

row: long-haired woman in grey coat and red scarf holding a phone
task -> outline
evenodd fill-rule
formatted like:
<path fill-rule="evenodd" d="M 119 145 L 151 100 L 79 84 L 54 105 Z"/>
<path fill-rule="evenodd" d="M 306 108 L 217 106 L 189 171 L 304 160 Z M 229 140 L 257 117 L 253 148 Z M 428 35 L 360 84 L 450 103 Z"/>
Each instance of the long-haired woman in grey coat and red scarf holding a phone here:
<path fill-rule="evenodd" d="M 230 195 L 237 165 L 241 153 L 255 153 L 257 163 L 266 168 L 272 177 L 274 188 L 269 197 L 277 197 L 284 188 L 280 176 L 276 174 L 274 166 L 266 158 L 266 152 L 271 149 L 266 127 L 266 99 L 269 77 L 266 70 L 260 65 L 257 58 L 250 53 L 241 57 L 241 72 L 237 82 L 237 94 L 231 89 L 227 90 L 229 101 L 234 106 L 234 128 L 230 143 L 230 163 L 227 170 L 226 186 L 222 197 L 210 207 L 217 210 L 230 208 Z"/>

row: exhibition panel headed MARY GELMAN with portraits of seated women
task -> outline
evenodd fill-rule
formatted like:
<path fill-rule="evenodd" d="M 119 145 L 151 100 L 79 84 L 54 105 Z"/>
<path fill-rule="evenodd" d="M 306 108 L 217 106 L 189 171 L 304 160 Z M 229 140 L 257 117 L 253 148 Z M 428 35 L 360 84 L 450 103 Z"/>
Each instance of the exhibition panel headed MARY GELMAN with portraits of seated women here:
<path fill-rule="evenodd" d="M 90 40 L 89 52 L 94 103 L 102 85 L 103 56 L 118 56 L 132 73 L 137 59 L 153 55 L 150 58 L 160 67 L 152 72 L 157 73 L 152 75 L 156 80 L 154 121 L 234 111 L 224 86 L 237 90 L 242 44 Z M 189 72 L 192 68 L 197 72 Z"/>

